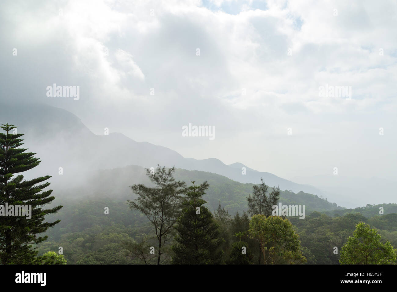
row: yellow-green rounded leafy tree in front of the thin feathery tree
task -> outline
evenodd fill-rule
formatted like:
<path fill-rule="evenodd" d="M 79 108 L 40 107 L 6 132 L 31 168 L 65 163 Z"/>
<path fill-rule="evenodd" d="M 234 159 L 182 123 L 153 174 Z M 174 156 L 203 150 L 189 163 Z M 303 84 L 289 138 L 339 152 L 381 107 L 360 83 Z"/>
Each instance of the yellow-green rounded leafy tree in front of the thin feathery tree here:
<path fill-rule="evenodd" d="M 258 240 L 265 264 L 304 263 L 299 236 L 288 219 L 254 215 L 249 234 Z"/>

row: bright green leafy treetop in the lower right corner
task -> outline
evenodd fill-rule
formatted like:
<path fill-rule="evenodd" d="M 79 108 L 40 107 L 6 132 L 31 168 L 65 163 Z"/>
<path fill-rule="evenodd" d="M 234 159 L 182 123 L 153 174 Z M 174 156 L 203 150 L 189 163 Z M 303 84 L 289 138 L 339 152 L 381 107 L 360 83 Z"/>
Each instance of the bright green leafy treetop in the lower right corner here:
<path fill-rule="evenodd" d="M 368 224 L 358 223 L 353 236 L 349 237 L 341 249 L 339 263 L 347 265 L 395 264 L 396 250 L 390 242 L 380 242 L 376 229 Z"/>

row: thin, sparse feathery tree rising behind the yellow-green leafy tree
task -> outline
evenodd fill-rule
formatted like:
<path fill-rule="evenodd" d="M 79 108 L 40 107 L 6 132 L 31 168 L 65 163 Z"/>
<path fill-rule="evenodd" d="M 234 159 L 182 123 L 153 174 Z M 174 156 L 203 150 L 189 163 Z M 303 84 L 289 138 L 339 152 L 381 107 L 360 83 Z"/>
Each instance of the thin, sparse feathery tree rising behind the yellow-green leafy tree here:
<path fill-rule="evenodd" d="M 273 206 L 278 203 L 280 197 L 280 189 L 279 187 L 272 188 L 272 191 L 267 194 L 268 186 L 264 183 L 263 178 L 260 178 L 260 184 L 254 184 L 252 186 L 252 197 L 248 195 L 248 213 L 253 215 L 265 215 L 269 217 L 272 215 Z M 258 263 L 260 264 L 261 261 L 261 250 L 259 248 L 259 257 Z"/>

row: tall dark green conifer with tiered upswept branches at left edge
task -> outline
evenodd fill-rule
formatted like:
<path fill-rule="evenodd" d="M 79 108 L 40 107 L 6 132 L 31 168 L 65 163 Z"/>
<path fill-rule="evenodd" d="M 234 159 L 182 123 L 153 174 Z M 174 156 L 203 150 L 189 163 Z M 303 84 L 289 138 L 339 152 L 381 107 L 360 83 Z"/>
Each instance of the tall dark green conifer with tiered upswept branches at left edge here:
<path fill-rule="evenodd" d="M 2 125 L 6 134 L 0 133 L 0 264 L 35 264 L 40 263 L 36 248 L 48 236 L 37 236 L 49 227 L 59 223 L 43 222 L 44 216 L 56 213 L 62 206 L 52 209 L 41 207 L 54 200 L 52 190 L 39 194 L 50 183 L 42 183 L 51 176 L 39 177 L 29 181 L 23 180 L 21 173 L 39 165 L 35 153 L 17 148 L 23 143 L 14 125 Z M 15 130 L 13 130 L 15 129 Z M 10 132 L 15 132 L 10 133 Z"/>

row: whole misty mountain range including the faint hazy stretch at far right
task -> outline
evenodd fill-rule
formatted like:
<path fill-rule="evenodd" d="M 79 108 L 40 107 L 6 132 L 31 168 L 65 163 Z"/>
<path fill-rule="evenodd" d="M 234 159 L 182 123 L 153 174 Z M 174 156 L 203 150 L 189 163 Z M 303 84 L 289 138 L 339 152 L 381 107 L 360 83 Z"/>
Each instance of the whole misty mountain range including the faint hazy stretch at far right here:
<path fill-rule="evenodd" d="M 53 183 L 78 184 L 84 182 L 87 174 L 98 169 L 128 165 L 150 168 L 159 164 L 216 173 L 240 183 L 259 183 L 262 177 L 269 186 L 279 186 L 281 190 L 295 193 L 316 194 L 345 207 L 395 202 L 395 183 L 391 181 L 297 176 L 293 178 L 298 182 L 295 183 L 239 162 L 226 165 L 216 158 L 184 158 L 169 148 L 136 142 L 121 133 L 96 135 L 73 113 L 43 104 L 0 104 L 0 123 L 19 126 L 18 133 L 25 134 L 26 148 L 37 153 L 42 160 L 39 167 L 27 175 L 49 174 L 53 176 Z M 60 167 L 62 176 L 59 175 Z"/>

